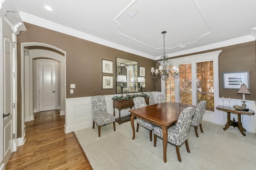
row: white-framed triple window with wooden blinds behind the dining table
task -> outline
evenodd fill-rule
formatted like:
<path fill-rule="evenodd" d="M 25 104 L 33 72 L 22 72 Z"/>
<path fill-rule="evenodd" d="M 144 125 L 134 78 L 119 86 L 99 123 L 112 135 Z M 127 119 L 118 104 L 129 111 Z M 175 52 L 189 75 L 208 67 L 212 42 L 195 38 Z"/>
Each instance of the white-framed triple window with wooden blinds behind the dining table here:
<path fill-rule="evenodd" d="M 196 106 L 201 100 L 206 100 L 206 111 L 214 112 L 219 99 L 218 56 L 221 52 L 172 59 L 179 68 L 179 78 L 169 77 L 166 82 L 162 80 L 166 101 Z"/>

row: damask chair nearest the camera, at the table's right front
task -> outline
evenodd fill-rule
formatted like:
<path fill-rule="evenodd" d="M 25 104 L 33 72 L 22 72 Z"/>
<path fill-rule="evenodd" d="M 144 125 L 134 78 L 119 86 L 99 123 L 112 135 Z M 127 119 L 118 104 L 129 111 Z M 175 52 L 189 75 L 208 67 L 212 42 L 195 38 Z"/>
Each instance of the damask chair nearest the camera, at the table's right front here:
<path fill-rule="evenodd" d="M 176 145 L 176 152 L 178 160 L 181 162 L 180 158 L 180 145 L 182 143 L 186 143 L 187 152 L 190 153 L 188 147 L 188 129 L 191 124 L 192 116 L 194 115 L 195 109 L 193 107 L 187 107 L 182 110 L 180 113 L 180 117 L 176 122 L 176 125 L 169 127 L 168 130 L 168 142 Z M 162 127 L 155 126 L 154 127 L 154 147 L 156 147 L 156 135 L 163 138 L 163 130 Z"/>

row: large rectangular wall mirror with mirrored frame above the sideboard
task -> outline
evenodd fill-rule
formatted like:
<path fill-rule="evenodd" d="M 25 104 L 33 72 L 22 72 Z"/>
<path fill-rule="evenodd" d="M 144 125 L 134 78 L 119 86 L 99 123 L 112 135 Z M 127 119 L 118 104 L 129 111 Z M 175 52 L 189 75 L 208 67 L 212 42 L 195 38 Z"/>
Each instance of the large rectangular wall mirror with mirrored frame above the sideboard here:
<path fill-rule="evenodd" d="M 121 64 L 127 64 L 134 66 L 133 68 L 133 75 L 135 78 L 132 79 L 129 75 L 126 75 L 127 83 L 126 86 L 123 88 L 123 93 L 132 93 L 132 92 L 137 92 L 138 86 L 137 86 L 137 79 L 138 79 L 138 62 L 137 61 L 132 61 L 128 59 L 122 59 L 120 57 L 116 57 L 116 81 L 117 81 L 117 76 L 121 75 Z M 130 81 L 130 84 L 128 85 Z M 119 82 L 116 82 L 116 93 L 121 93 L 121 84 Z"/>

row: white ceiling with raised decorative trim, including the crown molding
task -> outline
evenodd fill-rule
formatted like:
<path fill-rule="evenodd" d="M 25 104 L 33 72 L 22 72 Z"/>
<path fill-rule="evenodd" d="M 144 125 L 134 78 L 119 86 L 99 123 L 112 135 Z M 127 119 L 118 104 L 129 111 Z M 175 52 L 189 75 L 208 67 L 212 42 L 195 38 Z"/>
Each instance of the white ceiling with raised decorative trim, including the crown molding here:
<path fill-rule="evenodd" d="M 164 52 L 162 31 L 169 57 L 256 37 L 256 0 L 13 1 L 24 22 L 151 59 Z"/>

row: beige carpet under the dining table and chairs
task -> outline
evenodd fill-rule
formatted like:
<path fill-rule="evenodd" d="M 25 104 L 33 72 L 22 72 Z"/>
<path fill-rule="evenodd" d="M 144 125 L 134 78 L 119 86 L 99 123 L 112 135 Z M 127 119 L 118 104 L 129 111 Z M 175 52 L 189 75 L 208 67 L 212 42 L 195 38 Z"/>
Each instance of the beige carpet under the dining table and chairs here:
<path fill-rule="evenodd" d="M 134 120 L 136 125 L 136 120 Z M 140 127 L 132 140 L 131 123 L 113 124 L 76 131 L 76 137 L 84 149 L 94 170 L 256 170 L 256 134 L 246 132 L 242 136 L 238 129 L 203 121 L 204 133 L 190 126 L 188 144 L 180 146 L 182 162 L 178 161 L 176 148 L 167 144 L 167 162 L 163 160 L 163 142 L 158 138 L 149 140 L 147 129 Z M 136 127 L 135 127 L 136 128 Z M 153 136 L 153 135 L 152 135 Z"/>

